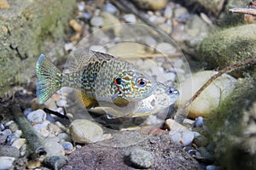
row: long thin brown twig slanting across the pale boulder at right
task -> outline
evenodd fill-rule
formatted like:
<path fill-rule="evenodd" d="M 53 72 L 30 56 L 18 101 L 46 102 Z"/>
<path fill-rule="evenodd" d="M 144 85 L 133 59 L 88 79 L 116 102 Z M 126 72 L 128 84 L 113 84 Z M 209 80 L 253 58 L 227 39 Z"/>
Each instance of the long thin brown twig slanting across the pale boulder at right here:
<path fill-rule="evenodd" d="M 202 93 L 202 91 L 207 88 L 214 80 L 216 80 L 218 77 L 220 77 L 221 75 L 223 75 L 224 73 L 228 73 L 230 71 L 234 71 L 236 69 L 239 69 L 243 66 L 246 65 L 253 65 L 256 63 L 256 57 L 253 59 L 247 59 L 246 61 L 242 61 L 240 63 L 236 63 L 235 65 L 230 65 L 225 67 L 223 70 L 218 71 L 217 74 L 215 74 L 214 76 L 212 76 L 195 94 L 194 96 L 189 99 L 185 105 L 183 105 L 182 108 L 178 109 L 176 116 L 174 116 L 174 119 L 177 122 L 182 122 L 183 121 L 183 117 L 184 114 L 183 112 L 185 111 L 185 109 Z"/>

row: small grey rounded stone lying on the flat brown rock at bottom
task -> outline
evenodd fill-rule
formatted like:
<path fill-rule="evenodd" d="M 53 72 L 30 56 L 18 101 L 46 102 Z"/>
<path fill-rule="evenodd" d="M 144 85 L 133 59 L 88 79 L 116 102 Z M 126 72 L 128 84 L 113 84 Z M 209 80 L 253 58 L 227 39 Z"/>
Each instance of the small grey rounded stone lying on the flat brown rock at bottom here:
<path fill-rule="evenodd" d="M 154 163 L 154 157 L 146 150 L 133 149 L 130 154 L 131 163 L 137 168 L 149 168 Z"/>

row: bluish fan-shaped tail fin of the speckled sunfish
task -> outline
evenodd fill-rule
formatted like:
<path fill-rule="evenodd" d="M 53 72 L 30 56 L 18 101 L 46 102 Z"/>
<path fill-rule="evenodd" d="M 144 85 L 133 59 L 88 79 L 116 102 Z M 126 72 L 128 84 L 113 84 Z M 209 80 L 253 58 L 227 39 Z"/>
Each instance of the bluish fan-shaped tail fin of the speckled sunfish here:
<path fill-rule="evenodd" d="M 52 94 L 61 88 L 61 71 L 41 54 L 36 65 L 38 77 L 37 97 L 38 102 L 43 104 Z"/>

